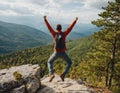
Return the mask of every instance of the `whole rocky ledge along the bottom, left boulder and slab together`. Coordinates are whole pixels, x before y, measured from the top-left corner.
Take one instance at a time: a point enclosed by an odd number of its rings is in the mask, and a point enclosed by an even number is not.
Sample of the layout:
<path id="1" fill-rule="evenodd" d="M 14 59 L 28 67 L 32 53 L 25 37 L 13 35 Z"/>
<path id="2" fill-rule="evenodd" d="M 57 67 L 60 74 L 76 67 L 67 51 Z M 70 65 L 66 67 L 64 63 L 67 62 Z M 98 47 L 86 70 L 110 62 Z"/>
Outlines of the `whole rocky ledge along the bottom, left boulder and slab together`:
<path id="1" fill-rule="evenodd" d="M 40 79 L 39 65 L 21 65 L 0 70 L 0 93 L 105 93 L 94 92 L 82 81 L 65 78 L 62 82 L 58 75 L 52 82 L 48 76 Z M 109 93 L 109 92 L 108 92 Z"/>

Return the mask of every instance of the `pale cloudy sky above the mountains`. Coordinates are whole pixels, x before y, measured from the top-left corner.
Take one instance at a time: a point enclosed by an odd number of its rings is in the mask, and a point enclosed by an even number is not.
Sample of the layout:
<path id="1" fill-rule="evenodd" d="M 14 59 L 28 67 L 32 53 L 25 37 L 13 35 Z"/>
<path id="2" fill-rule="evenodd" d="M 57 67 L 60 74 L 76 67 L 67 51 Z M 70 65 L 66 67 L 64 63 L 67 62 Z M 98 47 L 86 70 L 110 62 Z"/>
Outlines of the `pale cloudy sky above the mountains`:
<path id="1" fill-rule="evenodd" d="M 98 18 L 108 1 L 114 0 L 0 0 L 0 21 L 38 27 L 46 15 L 50 22 L 90 23 Z"/>

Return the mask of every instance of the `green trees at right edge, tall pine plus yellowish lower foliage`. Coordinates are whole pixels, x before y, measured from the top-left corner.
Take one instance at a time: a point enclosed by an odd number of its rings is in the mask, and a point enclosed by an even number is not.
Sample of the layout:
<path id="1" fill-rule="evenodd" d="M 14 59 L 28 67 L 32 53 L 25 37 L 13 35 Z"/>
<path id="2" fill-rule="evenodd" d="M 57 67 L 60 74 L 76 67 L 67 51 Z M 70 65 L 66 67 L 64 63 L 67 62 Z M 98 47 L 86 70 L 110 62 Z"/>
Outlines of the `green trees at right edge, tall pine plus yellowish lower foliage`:
<path id="1" fill-rule="evenodd" d="M 91 65 L 89 70 L 96 68 L 93 73 L 96 76 L 95 81 L 102 78 L 100 82 L 103 82 L 103 85 L 119 90 L 120 2 L 118 0 L 108 2 L 108 6 L 103 10 L 99 14 L 100 18 L 92 21 L 94 25 L 101 27 L 101 30 L 94 34 L 97 46 L 87 53 L 87 57 L 90 58 L 88 63 Z M 97 75 L 97 73 L 99 74 Z"/>

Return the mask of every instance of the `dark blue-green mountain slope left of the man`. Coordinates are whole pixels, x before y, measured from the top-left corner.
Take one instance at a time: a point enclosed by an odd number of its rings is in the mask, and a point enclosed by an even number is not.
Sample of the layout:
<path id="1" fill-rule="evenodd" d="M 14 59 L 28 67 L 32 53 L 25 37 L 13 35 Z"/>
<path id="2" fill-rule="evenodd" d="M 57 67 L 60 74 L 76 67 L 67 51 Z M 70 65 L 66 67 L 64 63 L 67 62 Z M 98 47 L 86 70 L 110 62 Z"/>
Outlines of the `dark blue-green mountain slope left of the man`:
<path id="1" fill-rule="evenodd" d="M 38 29 L 0 21 L 0 54 L 46 45 L 50 42 L 50 35 Z"/>

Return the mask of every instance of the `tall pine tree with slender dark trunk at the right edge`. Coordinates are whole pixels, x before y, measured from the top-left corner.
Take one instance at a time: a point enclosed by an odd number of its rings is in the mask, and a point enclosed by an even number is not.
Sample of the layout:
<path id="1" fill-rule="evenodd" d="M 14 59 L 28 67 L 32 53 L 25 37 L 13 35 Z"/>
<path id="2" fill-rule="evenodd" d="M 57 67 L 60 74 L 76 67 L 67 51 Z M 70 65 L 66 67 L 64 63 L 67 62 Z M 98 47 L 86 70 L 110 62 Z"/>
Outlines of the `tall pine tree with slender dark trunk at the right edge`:
<path id="1" fill-rule="evenodd" d="M 104 11 L 98 14 L 100 18 L 92 24 L 101 27 L 101 31 L 94 36 L 99 43 L 97 50 L 104 54 L 105 85 L 110 88 L 115 77 L 115 66 L 120 62 L 120 0 L 108 2 L 108 6 L 102 9 Z"/>

